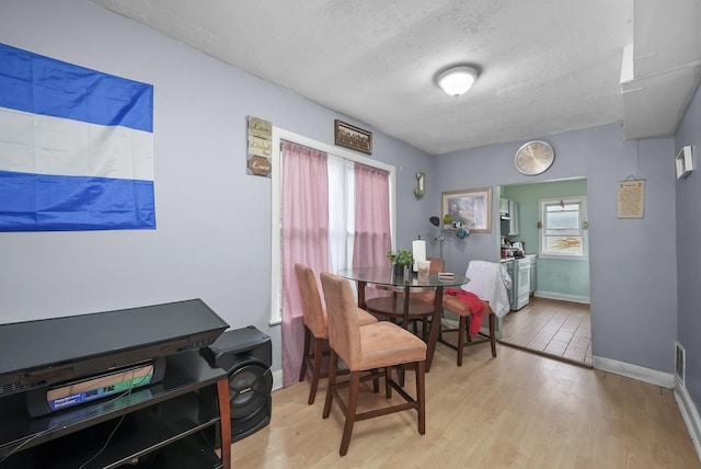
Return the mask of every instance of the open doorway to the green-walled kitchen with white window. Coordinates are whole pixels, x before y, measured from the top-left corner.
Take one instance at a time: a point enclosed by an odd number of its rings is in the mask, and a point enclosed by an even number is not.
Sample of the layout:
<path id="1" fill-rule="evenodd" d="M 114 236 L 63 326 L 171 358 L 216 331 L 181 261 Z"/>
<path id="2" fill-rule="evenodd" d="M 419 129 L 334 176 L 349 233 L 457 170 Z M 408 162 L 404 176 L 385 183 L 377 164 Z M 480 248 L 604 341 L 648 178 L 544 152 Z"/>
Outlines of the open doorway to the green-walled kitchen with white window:
<path id="1" fill-rule="evenodd" d="M 501 342 L 529 352 L 591 366 L 591 327 L 589 309 L 589 252 L 587 242 L 586 179 L 548 181 L 499 187 L 501 203 L 517 207 L 517 226 L 501 224 L 499 237 L 514 242 L 525 254 L 536 258 L 536 270 L 528 302 L 512 305 L 502 321 Z M 578 221 L 579 253 L 553 255 L 543 245 L 555 230 L 548 230 L 548 207 L 553 201 L 566 207 L 567 201 L 582 202 Z M 559 208 L 555 205 L 555 208 Z M 513 211 L 513 209 L 512 209 Z M 565 210 L 566 211 L 566 210 Z M 560 215 L 559 215 L 560 216 Z M 563 214 L 566 216 L 566 214 Z M 506 231 L 508 230 L 508 231 Z M 570 234 L 567 234 L 570 236 Z M 502 251 L 503 252 L 503 251 Z M 518 251 L 517 251 L 518 252 Z"/>

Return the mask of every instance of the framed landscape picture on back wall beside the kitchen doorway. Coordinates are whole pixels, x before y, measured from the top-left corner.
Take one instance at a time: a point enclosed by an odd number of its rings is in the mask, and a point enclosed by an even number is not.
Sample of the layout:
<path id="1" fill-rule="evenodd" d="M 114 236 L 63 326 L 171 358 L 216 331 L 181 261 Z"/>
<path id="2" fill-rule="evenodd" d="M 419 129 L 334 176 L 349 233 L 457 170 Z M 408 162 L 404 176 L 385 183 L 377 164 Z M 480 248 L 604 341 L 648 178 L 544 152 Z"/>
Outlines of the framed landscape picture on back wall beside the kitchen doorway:
<path id="1" fill-rule="evenodd" d="M 451 216 L 470 232 L 492 232 L 492 187 L 444 192 L 440 215 L 444 220 Z M 455 225 L 449 229 L 458 230 Z"/>

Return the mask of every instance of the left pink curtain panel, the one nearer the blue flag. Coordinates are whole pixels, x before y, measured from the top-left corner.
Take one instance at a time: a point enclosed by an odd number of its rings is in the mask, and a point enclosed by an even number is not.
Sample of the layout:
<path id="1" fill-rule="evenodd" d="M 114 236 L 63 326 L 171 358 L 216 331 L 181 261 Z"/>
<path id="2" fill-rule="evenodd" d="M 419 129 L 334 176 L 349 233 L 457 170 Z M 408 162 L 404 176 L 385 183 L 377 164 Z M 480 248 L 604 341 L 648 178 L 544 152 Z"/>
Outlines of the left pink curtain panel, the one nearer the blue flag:
<path id="1" fill-rule="evenodd" d="M 283 386 L 299 378 L 304 327 L 295 263 L 329 270 L 326 153 L 283 140 Z"/>

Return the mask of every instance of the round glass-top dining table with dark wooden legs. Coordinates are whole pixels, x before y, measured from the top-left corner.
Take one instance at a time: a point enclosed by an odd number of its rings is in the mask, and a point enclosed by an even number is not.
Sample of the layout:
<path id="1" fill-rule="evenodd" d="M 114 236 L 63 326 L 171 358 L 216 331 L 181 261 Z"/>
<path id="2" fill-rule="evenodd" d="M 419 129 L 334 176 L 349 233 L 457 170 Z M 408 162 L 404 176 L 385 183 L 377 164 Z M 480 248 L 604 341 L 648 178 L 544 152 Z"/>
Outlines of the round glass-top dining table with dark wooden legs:
<path id="1" fill-rule="evenodd" d="M 391 265 L 343 268 L 336 274 L 356 283 L 358 307 L 361 309 L 388 319 L 401 319 L 404 328 L 407 328 L 409 322 L 413 319 L 432 318 L 426 338 L 426 371 L 429 371 L 440 333 L 444 288 L 464 285 L 470 279 L 457 274 L 452 274 L 452 276 L 429 274 L 428 276 L 420 277 L 416 273 L 410 272 L 407 275 L 397 275 Z M 366 299 L 365 289 L 368 284 L 393 293 L 402 291 L 403 295 L 392 294 Z M 410 295 L 412 289 L 435 289 L 433 304 L 412 298 Z"/>

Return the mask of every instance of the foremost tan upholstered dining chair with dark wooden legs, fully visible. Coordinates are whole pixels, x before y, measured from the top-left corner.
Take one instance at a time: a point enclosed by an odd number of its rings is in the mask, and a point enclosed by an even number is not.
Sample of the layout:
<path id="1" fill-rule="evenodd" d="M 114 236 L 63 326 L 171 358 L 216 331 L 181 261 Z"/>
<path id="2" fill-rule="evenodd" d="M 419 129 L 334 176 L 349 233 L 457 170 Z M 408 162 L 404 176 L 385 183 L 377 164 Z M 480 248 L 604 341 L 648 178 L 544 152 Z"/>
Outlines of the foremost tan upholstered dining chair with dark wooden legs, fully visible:
<path id="1" fill-rule="evenodd" d="M 425 434 L 426 344 L 411 332 L 389 321 L 360 325 L 355 313 L 357 307 L 348 281 L 329 272 L 322 272 L 321 285 L 329 311 L 329 343 L 331 345 L 329 388 L 326 389 L 323 417 L 329 417 L 335 399 L 345 415 L 338 454 L 344 456 L 348 451 L 355 422 L 393 412 L 415 410 L 418 433 Z M 336 379 L 338 358 L 346 364 L 350 374 L 349 379 L 344 382 L 338 382 Z M 391 367 L 403 364 L 411 364 L 416 370 L 415 397 L 409 394 L 391 378 Z M 392 389 L 394 389 L 404 399 L 404 402 L 366 412 L 357 411 L 360 398 L 360 374 L 372 369 L 383 369 L 379 376 L 384 376 L 387 399 L 391 399 Z M 378 375 L 369 377 L 372 376 Z M 347 401 L 344 401 L 340 393 L 340 389 L 343 387 L 349 387 Z M 393 436 L 392 434 L 388 435 L 388 437 Z"/>

